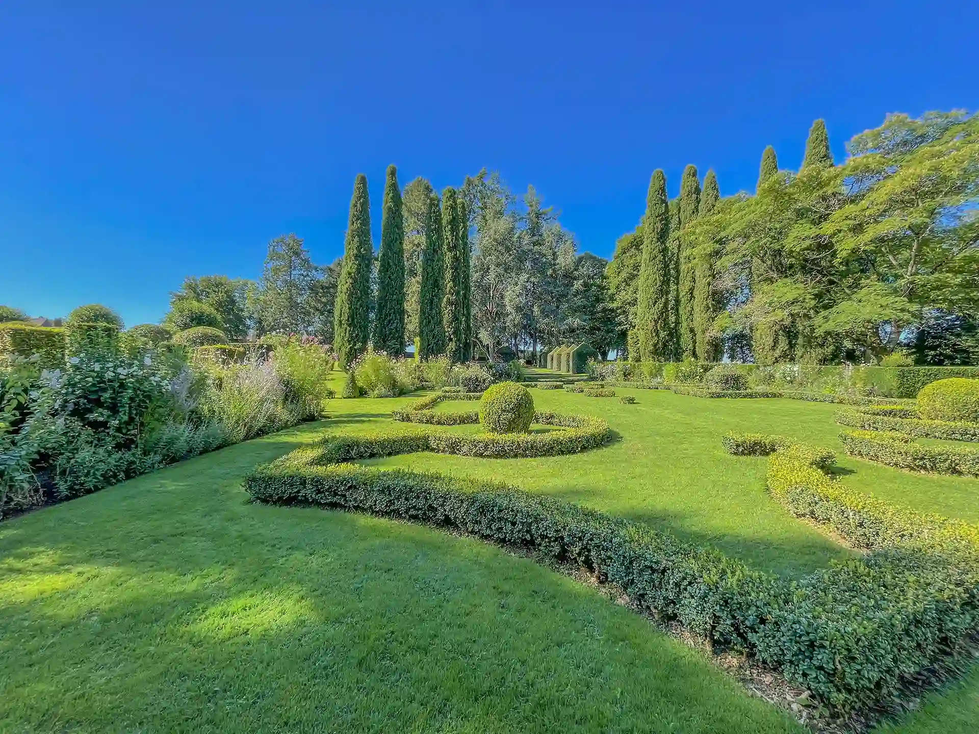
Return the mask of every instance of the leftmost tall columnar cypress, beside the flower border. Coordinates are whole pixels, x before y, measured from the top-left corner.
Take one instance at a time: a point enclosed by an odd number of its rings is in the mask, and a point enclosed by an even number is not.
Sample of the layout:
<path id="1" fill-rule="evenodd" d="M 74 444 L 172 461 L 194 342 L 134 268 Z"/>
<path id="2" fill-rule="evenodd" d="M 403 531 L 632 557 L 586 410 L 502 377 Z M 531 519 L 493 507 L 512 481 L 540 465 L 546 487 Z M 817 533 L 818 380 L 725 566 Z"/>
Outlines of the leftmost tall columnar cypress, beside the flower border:
<path id="1" fill-rule="evenodd" d="M 370 239 L 370 200 L 367 177 L 360 173 L 353 184 L 350 222 L 344 244 L 344 265 L 337 285 L 333 345 L 347 369 L 367 348 L 370 319 L 370 269 L 374 246 Z"/>

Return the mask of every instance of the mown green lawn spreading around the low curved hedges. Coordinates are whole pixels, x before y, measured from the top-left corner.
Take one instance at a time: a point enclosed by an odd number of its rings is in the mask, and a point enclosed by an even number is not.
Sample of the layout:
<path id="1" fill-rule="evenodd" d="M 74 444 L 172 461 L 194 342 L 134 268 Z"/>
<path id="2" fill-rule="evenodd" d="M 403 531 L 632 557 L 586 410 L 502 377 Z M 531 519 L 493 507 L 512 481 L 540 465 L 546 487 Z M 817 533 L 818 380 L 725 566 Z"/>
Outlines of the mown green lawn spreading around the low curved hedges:
<path id="1" fill-rule="evenodd" d="M 834 406 L 617 391 L 639 404 L 534 391 L 543 409 L 606 416 L 621 437 L 598 451 L 377 463 L 518 483 L 779 573 L 847 554 L 769 500 L 764 460 L 719 441 L 764 431 L 838 448 Z M 0 525 L 0 731 L 803 731 L 532 560 L 431 528 L 246 502 L 256 463 L 326 432 L 408 429 L 388 418 L 406 401 L 336 400 L 330 421 Z M 841 464 L 845 482 L 979 518 L 979 481 Z M 977 691 L 979 670 L 885 730 L 973 731 Z"/>

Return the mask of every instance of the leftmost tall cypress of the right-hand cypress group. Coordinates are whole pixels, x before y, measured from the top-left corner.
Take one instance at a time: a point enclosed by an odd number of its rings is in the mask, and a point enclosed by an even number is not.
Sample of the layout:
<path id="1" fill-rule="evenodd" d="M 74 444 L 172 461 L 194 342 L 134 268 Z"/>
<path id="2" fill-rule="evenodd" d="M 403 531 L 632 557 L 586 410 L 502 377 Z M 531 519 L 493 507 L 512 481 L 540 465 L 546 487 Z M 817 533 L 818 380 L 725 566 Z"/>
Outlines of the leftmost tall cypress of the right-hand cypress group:
<path id="1" fill-rule="evenodd" d="M 635 313 L 639 356 L 644 362 L 664 362 L 673 357 L 674 336 L 670 319 L 670 204 L 667 177 L 660 168 L 649 181 L 642 230 L 642 264 L 639 266 Z"/>

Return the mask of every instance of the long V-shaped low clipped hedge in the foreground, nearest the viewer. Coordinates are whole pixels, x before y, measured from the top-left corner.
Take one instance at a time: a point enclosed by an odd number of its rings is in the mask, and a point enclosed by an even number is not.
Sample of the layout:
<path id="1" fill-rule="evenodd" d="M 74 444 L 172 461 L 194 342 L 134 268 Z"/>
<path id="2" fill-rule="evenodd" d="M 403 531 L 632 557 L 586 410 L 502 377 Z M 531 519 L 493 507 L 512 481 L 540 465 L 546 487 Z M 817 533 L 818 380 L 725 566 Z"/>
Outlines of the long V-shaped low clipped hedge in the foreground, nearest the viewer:
<path id="1" fill-rule="evenodd" d="M 837 711 L 890 702 L 906 679 L 946 661 L 979 625 L 979 528 L 892 508 L 834 481 L 823 471 L 823 449 L 766 436 L 782 446 L 769 455 L 769 492 L 793 515 L 870 553 L 788 581 L 552 497 L 346 463 L 432 450 L 432 438 L 328 436 L 258 467 L 246 486 L 256 501 L 455 528 L 580 564 L 620 586 L 640 609 L 754 653 Z M 760 453 L 774 446 L 756 443 Z"/>

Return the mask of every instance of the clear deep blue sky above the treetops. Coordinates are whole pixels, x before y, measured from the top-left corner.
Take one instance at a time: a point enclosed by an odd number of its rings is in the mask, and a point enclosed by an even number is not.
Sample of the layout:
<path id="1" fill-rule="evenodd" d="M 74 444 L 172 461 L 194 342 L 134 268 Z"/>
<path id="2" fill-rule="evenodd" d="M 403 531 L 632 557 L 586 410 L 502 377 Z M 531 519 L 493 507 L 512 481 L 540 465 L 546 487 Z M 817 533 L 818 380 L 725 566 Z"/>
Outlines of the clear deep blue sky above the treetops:
<path id="1" fill-rule="evenodd" d="M 185 275 L 343 249 L 367 174 L 533 183 L 609 256 L 656 167 L 754 187 L 888 112 L 979 107 L 975 2 L 0 5 L 0 303 L 157 321 Z"/>

